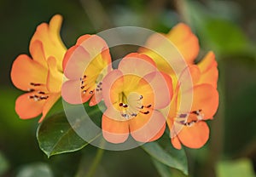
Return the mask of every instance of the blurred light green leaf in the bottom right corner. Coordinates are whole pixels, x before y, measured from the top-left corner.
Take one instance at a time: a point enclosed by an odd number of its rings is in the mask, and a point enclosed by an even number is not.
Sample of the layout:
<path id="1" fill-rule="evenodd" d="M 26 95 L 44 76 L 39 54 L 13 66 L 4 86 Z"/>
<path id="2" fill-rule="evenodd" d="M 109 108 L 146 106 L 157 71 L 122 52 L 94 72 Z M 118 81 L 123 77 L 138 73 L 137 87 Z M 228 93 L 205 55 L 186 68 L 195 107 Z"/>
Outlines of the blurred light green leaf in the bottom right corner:
<path id="1" fill-rule="evenodd" d="M 253 164 L 248 159 L 239 159 L 233 161 L 223 161 L 217 164 L 217 176 L 218 177 L 253 177 Z"/>

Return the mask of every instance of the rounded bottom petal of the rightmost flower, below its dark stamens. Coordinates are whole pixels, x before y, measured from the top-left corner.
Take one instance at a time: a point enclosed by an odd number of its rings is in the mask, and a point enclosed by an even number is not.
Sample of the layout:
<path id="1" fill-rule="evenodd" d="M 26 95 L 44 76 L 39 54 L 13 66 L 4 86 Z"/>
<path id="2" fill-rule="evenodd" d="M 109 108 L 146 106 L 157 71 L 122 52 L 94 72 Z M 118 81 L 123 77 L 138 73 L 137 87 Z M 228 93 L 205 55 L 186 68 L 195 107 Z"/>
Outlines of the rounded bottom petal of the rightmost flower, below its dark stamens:
<path id="1" fill-rule="evenodd" d="M 177 136 L 184 146 L 200 148 L 207 143 L 209 128 L 207 123 L 200 121 L 191 127 L 184 126 Z"/>

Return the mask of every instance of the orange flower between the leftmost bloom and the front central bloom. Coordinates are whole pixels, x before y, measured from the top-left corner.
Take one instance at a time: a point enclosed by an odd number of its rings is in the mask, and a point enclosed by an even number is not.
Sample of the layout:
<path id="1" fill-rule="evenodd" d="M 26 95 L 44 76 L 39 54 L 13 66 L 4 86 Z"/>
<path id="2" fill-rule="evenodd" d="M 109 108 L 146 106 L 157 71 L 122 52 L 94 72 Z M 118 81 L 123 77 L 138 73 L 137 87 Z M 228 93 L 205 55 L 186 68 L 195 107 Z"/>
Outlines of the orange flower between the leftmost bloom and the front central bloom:
<path id="1" fill-rule="evenodd" d="M 95 106 L 102 100 L 102 78 L 112 69 L 108 44 L 96 35 L 79 37 L 67 50 L 63 68 L 68 78 L 62 85 L 63 99 L 70 104 L 90 100 Z"/>

